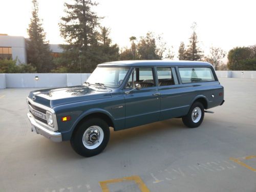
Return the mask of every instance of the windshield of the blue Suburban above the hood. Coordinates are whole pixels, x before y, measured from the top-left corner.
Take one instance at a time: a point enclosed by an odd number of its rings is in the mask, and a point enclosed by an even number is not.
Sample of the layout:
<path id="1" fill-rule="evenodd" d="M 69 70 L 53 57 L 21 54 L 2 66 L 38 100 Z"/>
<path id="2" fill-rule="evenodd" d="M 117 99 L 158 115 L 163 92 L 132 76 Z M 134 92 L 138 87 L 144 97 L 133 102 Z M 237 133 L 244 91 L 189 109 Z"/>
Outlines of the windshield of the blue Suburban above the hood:
<path id="1" fill-rule="evenodd" d="M 97 86 L 118 88 L 127 74 L 129 68 L 124 67 L 97 67 L 87 82 Z"/>

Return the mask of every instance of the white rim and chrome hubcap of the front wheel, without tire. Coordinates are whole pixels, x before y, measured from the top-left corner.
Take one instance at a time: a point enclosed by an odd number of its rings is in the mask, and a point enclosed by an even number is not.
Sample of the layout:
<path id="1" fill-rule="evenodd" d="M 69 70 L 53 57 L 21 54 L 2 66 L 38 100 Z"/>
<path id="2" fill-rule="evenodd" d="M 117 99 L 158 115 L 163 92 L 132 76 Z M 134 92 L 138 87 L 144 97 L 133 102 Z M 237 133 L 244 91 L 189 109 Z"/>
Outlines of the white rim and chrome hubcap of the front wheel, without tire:
<path id="1" fill-rule="evenodd" d="M 93 150 L 97 148 L 103 141 L 104 133 L 99 126 L 90 126 L 82 137 L 82 143 L 86 148 Z"/>

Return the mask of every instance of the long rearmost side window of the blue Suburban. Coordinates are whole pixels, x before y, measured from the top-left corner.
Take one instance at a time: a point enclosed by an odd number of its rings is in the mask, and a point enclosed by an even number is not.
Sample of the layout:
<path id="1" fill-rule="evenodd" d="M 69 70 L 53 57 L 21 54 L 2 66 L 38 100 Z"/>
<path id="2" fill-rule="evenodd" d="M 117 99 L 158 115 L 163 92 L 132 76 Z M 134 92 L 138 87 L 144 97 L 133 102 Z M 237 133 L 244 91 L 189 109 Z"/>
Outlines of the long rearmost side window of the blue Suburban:
<path id="1" fill-rule="evenodd" d="M 179 73 L 182 83 L 215 81 L 211 69 L 206 67 L 179 68 Z"/>

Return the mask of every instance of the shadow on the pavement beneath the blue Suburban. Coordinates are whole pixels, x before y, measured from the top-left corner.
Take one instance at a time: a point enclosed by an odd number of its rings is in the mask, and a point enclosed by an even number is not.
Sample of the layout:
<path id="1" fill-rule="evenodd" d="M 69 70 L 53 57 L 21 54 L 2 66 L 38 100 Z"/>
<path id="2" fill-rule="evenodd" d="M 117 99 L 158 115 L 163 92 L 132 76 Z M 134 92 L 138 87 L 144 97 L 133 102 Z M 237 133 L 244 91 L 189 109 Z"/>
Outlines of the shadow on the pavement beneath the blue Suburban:
<path id="1" fill-rule="evenodd" d="M 172 135 L 174 132 L 184 129 L 186 128 L 181 119 L 170 119 L 116 132 L 111 128 L 110 141 L 106 148 L 114 149 L 117 146 L 125 145 L 127 143 L 129 144 L 129 142 L 134 142 L 135 140 L 137 141 L 138 138 L 140 138 L 140 142 L 144 142 L 147 139 L 163 137 L 164 135 Z M 84 158 L 73 151 L 69 141 L 54 143 L 44 137 L 41 137 L 35 139 L 34 142 L 36 142 L 37 145 L 40 143 L 39 146 L 37 146 L 40 148 L 38 151 L 40 156 L 47 156 L 48 159 L 61 159 L 62 161 L 65 159 L 66 161 L 70 161 Z M 102 155 L 103 154 L 104 153 L 102 153 Z"/>

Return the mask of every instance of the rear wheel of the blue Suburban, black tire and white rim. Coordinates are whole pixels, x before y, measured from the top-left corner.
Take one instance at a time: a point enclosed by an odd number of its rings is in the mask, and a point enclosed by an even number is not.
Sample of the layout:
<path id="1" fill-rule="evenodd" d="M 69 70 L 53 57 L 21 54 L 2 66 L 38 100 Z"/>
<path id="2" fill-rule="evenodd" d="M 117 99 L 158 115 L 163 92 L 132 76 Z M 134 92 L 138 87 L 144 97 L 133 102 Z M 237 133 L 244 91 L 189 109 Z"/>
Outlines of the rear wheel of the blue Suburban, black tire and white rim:
<path id="1" fill-rule="evenodd" d="M 204 106 L 201 102 L 191 105 L 187 115 L 182 117 L 183 123 L 190 128 L 198 127 L 204 119 Z"/>

